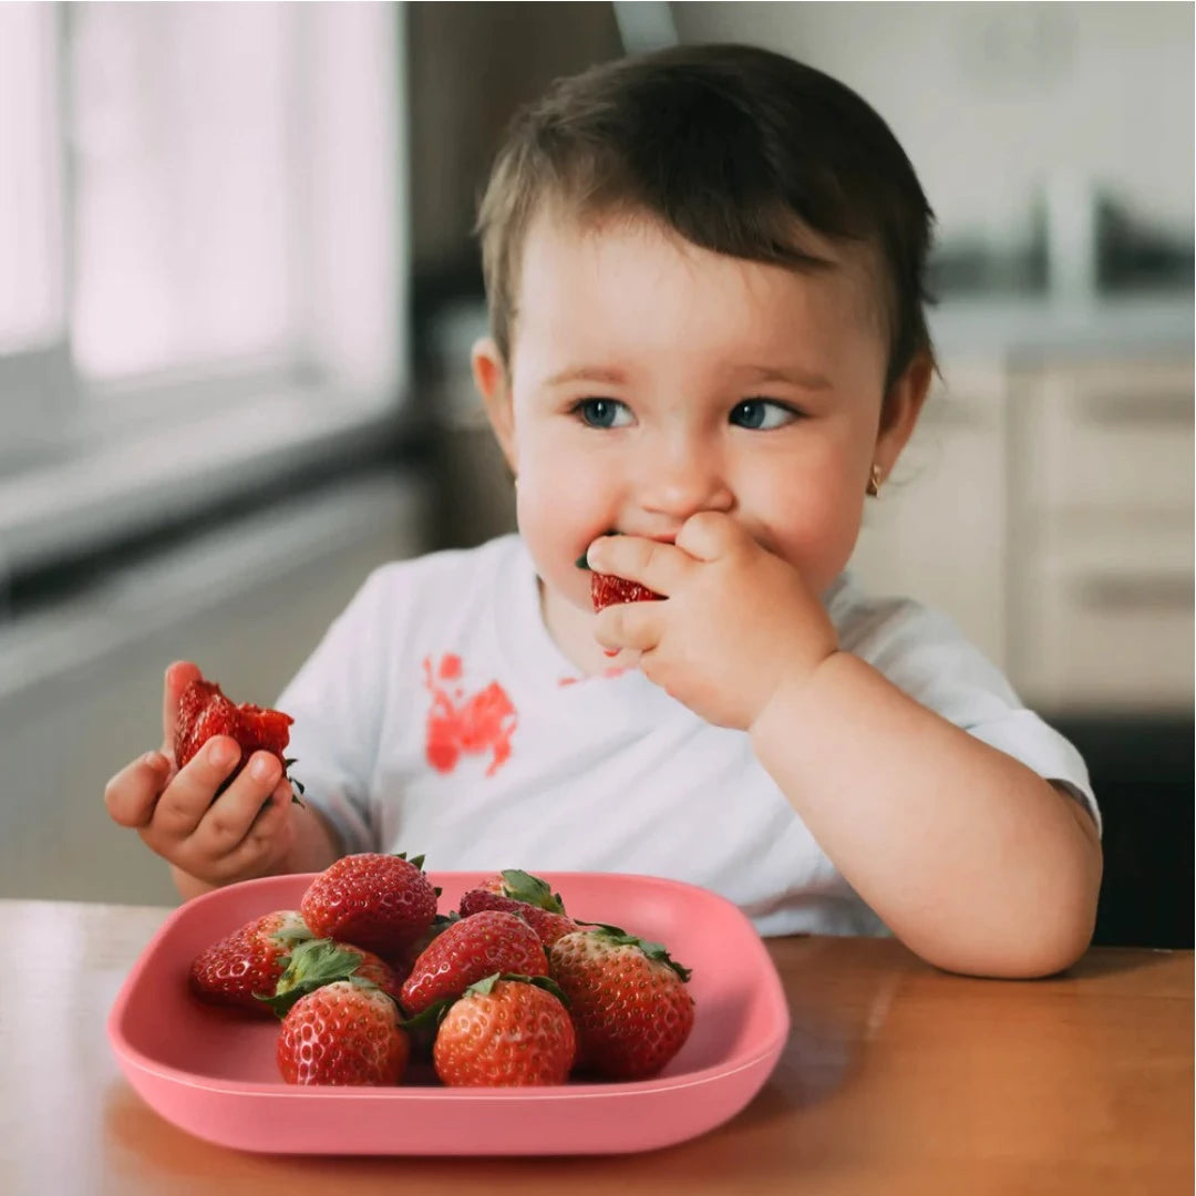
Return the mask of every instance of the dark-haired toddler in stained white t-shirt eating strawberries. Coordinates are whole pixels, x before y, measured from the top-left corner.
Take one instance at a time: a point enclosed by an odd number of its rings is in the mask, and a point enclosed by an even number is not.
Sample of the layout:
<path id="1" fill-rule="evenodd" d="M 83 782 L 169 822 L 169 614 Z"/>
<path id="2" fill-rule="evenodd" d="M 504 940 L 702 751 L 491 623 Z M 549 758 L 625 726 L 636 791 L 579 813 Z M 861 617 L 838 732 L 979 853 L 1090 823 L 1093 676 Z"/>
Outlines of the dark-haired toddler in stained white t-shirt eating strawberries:
<path id="1" fill-rule="evenodd" d="M 1074 962 L 1084 762 L 950 621 L 844 572 L 934 370 L 930 219 L 875 112 L 780 55 L 557 84 L 480 216 L 519 533 L 365 581 L 277 702 L 305 807 L 266 753 L 213 803 L 227 739 L 175 768 L 178 663 L 111 816 L 184 896 L 407 850 L 688 880 L 762 934 L 889 930 L 972 975 Z M 596 615 L 591 570 L 663 600 Z"/>

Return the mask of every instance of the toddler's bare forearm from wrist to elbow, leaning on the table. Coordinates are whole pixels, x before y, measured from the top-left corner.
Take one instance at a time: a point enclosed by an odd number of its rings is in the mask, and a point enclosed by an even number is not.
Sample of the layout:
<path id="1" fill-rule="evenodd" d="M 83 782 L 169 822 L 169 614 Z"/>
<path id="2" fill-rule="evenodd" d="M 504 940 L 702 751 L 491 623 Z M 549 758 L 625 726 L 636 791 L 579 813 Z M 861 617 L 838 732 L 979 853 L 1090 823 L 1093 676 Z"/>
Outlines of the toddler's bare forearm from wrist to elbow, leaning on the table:
<path id="1" fill-rule="evenodd" d="M 910 948 L 987 976 L 1085 950 L 1100 847 L 1087 813 L 836 653 L 751 727 L 762 765 L 849 884 Z"/>

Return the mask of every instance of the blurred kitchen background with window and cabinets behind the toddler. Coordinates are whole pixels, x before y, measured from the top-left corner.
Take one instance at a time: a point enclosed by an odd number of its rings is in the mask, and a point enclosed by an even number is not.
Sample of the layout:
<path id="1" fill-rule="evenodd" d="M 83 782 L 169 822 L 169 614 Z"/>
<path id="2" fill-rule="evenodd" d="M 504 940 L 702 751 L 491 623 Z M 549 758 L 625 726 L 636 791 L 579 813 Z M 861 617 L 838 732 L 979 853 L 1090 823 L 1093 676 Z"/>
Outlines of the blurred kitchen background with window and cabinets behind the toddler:
<path id="1" fill-rule="evenodd" d="M 109 823 L 197 660 L 271 702 L 366 573 L 512 526 L 471 391 L 513 109 L 673 41 L 855 87 L 935 208 L 941 383 L 855 568 L 1086 753 L 1098 941 L 1191 945 L 1189 4 L 0 5 L 0 896 L 172 902 Z"/>

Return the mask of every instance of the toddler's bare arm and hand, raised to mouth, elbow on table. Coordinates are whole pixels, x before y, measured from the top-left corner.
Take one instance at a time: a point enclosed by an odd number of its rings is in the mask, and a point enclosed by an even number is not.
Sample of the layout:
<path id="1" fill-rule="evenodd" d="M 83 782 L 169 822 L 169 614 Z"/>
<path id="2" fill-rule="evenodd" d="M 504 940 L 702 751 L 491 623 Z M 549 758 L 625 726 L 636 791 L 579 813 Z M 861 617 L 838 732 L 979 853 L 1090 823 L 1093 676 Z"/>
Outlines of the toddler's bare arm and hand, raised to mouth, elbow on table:
<path id="1" fill-rule="evenodd" d="M 734 520 L 694 515 L 676 545 L 604 537 L 588 561 L 666 596 L 602 611 L 599 643 L 749 732 L 823 850 L 925 959 L 1029 977 L 1087 947 L 1102 868 L 1087 813 L 841 652 L 804 579 Z"/>

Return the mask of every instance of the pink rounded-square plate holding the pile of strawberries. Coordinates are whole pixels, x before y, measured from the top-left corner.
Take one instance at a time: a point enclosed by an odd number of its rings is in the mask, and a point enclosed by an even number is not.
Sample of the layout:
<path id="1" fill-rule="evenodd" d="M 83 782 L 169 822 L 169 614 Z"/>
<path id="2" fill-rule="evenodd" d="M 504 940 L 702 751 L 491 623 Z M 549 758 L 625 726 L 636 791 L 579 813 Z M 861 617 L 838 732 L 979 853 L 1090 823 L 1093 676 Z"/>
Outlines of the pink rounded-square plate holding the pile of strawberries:
<path id="1" fill-rule="evenodd" d="M 440 909 L 493 875 L 429 873 Z M 297 1087 L 275 1063 L 277 1025 L 197 1001 L 191 960 L 261 914 L 295 909 L 312 875 L 230 885 L 177 909 L 142 952 L 112 1006 L 121 1069 L 163 1117 L 243 1151 L 298 1154 L 606 1154 L 702 1134 L 743 1109 L 780 1056 L 789 1017 L 751 922 L 704 889 L 652 877 L 543 877 L 578 919 L 664 942 L 692 969 L 694 1030 L 669 1067 L 630 1084 L 543 1088 Z"/>

